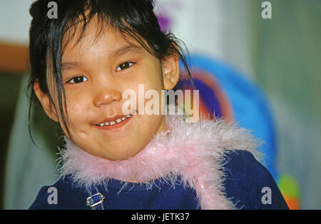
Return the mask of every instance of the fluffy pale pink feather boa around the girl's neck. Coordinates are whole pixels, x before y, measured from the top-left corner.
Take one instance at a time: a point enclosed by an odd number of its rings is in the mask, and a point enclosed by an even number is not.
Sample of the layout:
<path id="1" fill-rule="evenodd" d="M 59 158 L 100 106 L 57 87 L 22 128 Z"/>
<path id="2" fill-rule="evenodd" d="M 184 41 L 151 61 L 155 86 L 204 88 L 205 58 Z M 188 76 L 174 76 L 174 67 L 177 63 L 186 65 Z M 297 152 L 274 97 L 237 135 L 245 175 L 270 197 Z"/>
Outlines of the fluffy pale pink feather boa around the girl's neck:
<path id="1" fill-rule="evenodd" d="M 76 185 L 107 184 L 109 178 L 135 179 L 153 185 L 163 178 L 194 188 L 202 209 L 231 209 L 225 197 L 223 163 L 226 150 L 255 153 L 255 139 L 244 128 L 221 118 L 185 123 L 182 116 L 166 116 L 167 131 L 155 136 L 148 146 L 126 161 L 108 161 L 92 156 L 66 139 L 61 150 L 61 175 L 71 174 Z"/>

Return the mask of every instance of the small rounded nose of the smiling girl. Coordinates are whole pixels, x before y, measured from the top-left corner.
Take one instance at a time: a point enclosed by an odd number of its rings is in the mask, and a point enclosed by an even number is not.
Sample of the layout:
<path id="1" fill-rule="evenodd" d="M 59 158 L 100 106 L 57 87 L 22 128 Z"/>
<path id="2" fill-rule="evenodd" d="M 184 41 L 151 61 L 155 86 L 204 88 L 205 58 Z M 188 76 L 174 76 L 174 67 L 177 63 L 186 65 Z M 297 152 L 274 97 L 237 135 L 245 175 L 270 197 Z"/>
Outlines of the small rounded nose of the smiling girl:
<path id="1" fill-rule="evenodd" d="M 121 101 L 122 94 L 117 88 L 111 85 L 96 86 L 96 93 L 93 96 L 93 105 L 96 107 L 106 106 L 114 101 Z"/>

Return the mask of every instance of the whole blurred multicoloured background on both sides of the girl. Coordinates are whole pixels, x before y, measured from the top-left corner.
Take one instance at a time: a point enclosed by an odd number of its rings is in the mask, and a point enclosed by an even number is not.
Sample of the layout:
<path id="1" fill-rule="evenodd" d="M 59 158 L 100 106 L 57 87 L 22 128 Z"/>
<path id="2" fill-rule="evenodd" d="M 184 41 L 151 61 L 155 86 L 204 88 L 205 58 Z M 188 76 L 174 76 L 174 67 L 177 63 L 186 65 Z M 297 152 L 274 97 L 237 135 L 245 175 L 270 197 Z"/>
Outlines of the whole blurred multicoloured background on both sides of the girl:
<path id="1" fill-rule="evenodd" d="M 58 177 L 58 131 L 40 107 L 31 111 L 38 147 L 28 132 L 32 2 L 0 1 L 3 209 L 29 208 L 41 186 Z M 159 0 L 156 12 L 164 31 L 173 31 L 188 47 L 195 80 L 204 90 L 203 110 L 265 141 L 266 166 L 292 209 L 320 209 L 321 1 L 268 1 L 271 19 L 263 19 L 263 2 Z"/>

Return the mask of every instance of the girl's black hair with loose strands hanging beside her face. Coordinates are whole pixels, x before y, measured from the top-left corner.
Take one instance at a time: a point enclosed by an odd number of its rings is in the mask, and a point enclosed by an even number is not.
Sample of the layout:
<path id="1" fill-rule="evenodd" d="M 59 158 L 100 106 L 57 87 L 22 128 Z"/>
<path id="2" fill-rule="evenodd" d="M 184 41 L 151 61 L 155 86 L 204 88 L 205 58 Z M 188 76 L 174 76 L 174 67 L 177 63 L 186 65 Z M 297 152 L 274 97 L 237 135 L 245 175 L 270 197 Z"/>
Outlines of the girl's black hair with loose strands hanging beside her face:
<path id="1" fill-rule="evenodd" d="M 185 47 L 182 47 L 184 46 L 183 42 L 170 32 L 165 33 L 161 30 L 153 11 L 153 0 L 56 0 L 58 6 L 56 19 L 50 19 L 47 15 L 50 9 L 49 2 L 49 0 L 35 1 L 29 10 L 33 17 L 29 33 L 31 66 L 28 86 L 31 93 L 29 133 L 31 133 L 31 103 L 34 100 L 37 101 L 33 86 L 38 81 L 41 91 L 48 94 L 51 104 L 57 112 L 60 112 L 63 126 L 71 136 L 66 125 L 66 114 L 63 111 L 63 108 L 66 108 L 66 100 L 64 100 L 66 96 L 61 78 L 62 56 L 68 42 L 75 38 L 76 26 L 81 26 L 81 34 L 77 35 L 78 41 L 81 41 L 86 26 L 94 16 L 98 18 L 97 36 L 102 34 L 108 26 L 120 31 L 124 38 L 135 39 L 160 60 L 177 54 L 185 67 L 191 86 L 193 86 L 185 57 Z M 54 78 L 58 107 L 49 93 L 48 73 Z"/>

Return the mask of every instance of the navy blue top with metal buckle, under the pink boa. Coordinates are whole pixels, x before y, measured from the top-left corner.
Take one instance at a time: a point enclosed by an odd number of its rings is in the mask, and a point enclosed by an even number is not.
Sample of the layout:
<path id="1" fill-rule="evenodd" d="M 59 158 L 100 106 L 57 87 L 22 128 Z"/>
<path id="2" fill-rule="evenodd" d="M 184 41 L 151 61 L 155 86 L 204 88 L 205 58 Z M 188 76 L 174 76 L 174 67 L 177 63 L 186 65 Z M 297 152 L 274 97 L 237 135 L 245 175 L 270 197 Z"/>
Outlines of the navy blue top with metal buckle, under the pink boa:
<path id="1" fill-rule="evenodd" d="M 248 151 L 229 153 L 223 165 L 225 195 L 238 209 L 288 209 L 275 180 L 269 171 Z M 74 186 L 71 175 L 60 178 L 54 185 L 44 186 L 30 209 L 127 209 L 127 210 L 195 210 L 201 209 L 193 188 L 184 187 L 178 180 L 175 185 L 156 180 L 152 188 L 146 184 L 128 183 L 111 179 L 108 187 L 97 185 L 91 189 Z M 51 187 L 56 189 L 56 201 L 51 201 Z M 50 189 L 49 189 L 50 188 Z M 123 188 L 123 189 L 122 189 Z M 87 198 L 101 193 L 103 202 L 90 207 Z M 93 198 L 98 199 L 100 195 Z"/>

